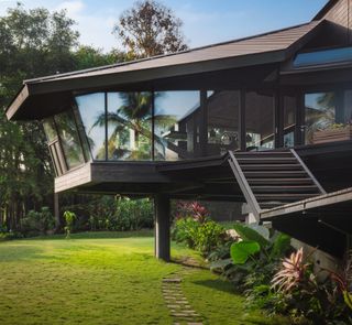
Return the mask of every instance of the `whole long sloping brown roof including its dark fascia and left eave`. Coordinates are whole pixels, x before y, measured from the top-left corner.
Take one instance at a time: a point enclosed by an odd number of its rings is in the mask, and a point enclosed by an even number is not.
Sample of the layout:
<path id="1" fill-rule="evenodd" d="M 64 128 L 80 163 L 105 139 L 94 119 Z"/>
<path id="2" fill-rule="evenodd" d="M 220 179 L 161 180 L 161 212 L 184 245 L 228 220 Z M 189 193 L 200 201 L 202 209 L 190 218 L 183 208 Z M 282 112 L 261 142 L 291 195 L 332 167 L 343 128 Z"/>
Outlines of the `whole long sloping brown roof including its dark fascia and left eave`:
<path id="1" fill-rule="evenodd" d="M 38 110 L 40 105 L 37 102 L 40 100 L 50 98 L 52 102 L 57 104 L 57 100 L 62 98 L 62 95 L 58 94 L 73 90 L 94 90 L 283 62 L 300 50 L 323 22 L 312 21 L 288 29 L 175 54 L 24 80 L 24 86 L 9 106 L 7 116 L 9 119 L 40 118 L 37 112 L 31 113 L 34 109 Z M 55 99 L 53 100 L 53 98 Z M 48 104 L 46 104 L 46 107 Z"/>

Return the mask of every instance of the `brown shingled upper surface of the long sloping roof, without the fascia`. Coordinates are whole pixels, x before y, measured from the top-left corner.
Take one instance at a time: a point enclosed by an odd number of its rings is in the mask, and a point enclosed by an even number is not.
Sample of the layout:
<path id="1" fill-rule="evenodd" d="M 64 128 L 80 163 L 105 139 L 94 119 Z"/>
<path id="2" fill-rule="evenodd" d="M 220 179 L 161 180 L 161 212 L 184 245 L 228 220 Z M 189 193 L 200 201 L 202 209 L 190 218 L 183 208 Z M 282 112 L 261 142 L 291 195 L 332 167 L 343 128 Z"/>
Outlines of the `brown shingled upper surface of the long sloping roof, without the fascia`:
<path id="1" fill-rule="evenodd" d="M 42 78 L 25 80 L 25 84 L 91 77 L 106 74 L 118 74 L 148 68 L 160 68 L 189 63 L 200 63 L 213 59 L 240 57 L 268 52 L 286 51 L 301 37 L 311 32 L 320 21 L 258 34 L 245 39 L 212 44 L 198 48 L 187 50 L 174 54 L 161 55 L 145 59 L 132 61 L 86 71 L 53 75 Z M 253 64 L 253 63 L 252 63 Z M 255 62 L 254 62 L 255 64 Z"/>

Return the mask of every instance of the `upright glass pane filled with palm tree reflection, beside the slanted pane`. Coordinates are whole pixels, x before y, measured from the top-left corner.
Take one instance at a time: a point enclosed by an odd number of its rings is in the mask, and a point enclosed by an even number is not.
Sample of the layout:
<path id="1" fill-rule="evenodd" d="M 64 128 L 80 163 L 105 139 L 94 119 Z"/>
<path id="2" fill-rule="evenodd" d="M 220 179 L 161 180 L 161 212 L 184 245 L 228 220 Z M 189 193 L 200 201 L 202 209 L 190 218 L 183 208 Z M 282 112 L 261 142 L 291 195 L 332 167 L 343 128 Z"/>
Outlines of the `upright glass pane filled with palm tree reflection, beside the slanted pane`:
<path id="1" fill-rule="evenodd" d="M 153 95 L 108 94 L 108 159 L 152 160 Z"/>

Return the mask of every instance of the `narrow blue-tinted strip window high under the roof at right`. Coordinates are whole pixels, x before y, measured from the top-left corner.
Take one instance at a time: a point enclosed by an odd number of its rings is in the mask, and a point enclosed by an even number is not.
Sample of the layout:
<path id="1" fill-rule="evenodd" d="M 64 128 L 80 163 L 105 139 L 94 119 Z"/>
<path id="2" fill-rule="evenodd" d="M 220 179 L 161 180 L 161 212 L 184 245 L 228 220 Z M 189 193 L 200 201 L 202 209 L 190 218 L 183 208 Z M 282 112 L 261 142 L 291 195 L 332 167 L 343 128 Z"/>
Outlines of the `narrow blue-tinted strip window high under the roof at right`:
<path id="1" fill-rule="evenodd" d="M 352 61 L 352 47 L 330 48 L 297 54 L 294 67 L 343 63 Z"/>

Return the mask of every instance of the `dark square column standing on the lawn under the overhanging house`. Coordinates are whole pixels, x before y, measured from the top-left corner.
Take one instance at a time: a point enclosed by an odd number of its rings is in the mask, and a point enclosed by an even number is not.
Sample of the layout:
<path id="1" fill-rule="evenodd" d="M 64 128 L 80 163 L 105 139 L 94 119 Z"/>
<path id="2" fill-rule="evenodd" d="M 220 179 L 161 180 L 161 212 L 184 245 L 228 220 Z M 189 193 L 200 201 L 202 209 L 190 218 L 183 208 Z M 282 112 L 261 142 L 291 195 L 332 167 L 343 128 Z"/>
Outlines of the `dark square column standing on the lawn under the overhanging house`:
<path id="1" fill-rule="evenodd" d="M 157 259 L 168 262 L 170 257 L 169 197 L 164 194 L 156 194 L 154 196 L 154 209 L 155 209 L 155 257 Z"/>

